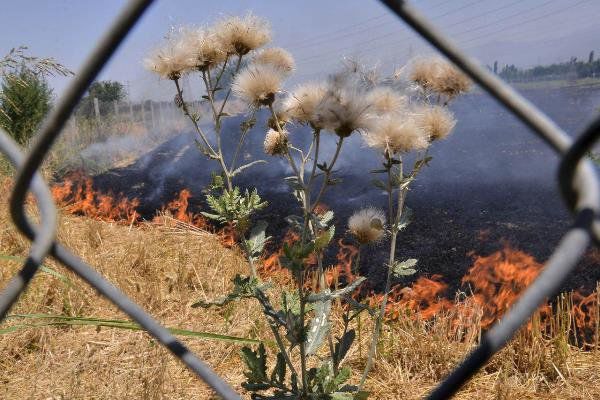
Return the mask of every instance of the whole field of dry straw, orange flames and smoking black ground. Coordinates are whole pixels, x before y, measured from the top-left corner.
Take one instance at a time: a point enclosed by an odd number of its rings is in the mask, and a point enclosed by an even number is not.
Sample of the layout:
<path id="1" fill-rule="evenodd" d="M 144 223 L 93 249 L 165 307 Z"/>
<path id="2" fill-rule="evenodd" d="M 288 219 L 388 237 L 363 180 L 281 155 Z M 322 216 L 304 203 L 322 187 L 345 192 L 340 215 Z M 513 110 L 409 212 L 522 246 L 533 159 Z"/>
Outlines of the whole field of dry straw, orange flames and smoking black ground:
<path id="1" fill-rule="evenodd" d="M 597 91 L 582 88 L 528 95 L 568 131 L 579 129 L 600 99 Z M 570 223 L 556 189 L 557 160 L 539 140 L 481 94 L 452 107 L 459 125 L 432 151 L 431 165 L 411 187 L 407 206 L 413 222 L 398 236 L 399 257 L 417 259 L 417 273 L 392 282 L 380 360 L 367 380 L 377 399 L 421 397 L 445 376 L 536 278 Z M 243 158 L 262 157 L 267 117 L 258 115 L 241 149 Z M 240 122 L 227 118 L 223 129 L 233 131 Z M 351 296 L 375 309 L 383 298 L 386 252 L 375 245 L 359 253 L 346 221 L 356 209 L 381 206 L 385 197 L 366 178 L 365 172 L 378 167 L 375 157 L 355 139 L 348 139 L 345 160 L 337 165 L 340 189 L 325 195 L 315 213 L 336 210 L 336 245 L 323 255 L 326 284 L 336 289 L 359 274 L 366 276 Z M 322 145 L 331 151 L 333 142 L 324 137 Z M 285 298 L 294 280 L 284 267 L 285 249 L 301 240 L 285 222 L 294 211 L 294 199 L 281 183 L 289 171 L 279 159 L 253 171 L 240 179 L 240 186 L 256 187 L 270 203 L 258 213 L 269 223 L 271 236 L 258 259 L 258 273 L 264 281 L 281 284 L 270 294 L 273 298 Z M 207 210 L 210 173 L 194 136 L 184 133 L 126 167 L 95 176 L 83 171 L 56 176 L 52 194 L 62 210 L 59 238 L 167 326 L 233 335 L 242 342 L 261 340 L 276 349 L 259 307 L 251 302 L 233 302 L 214 312 L 190 307 L 198 299 L 226 293 L 229 278 L 247 270 L 236 227 L 201 214 Z M 7 227 L 0 232 L 0 250 L 20 256 L 27 244 L 8 227 L 7 199 L 0 198 Z M 17 270 L 18 262 L 9 260 L 0 282 Z M 600 346 L 598 262 L 600 253 L 590 251 L 562 292 L 548 299 L 460 398 L 597 398 L 600 393 L 589 382 L 597 378 Z M 319 286 L 318 260 L 308 257 L 305 264 L 304 286 Z M 54 273 L 36 279 L 16 318 L 42 313 L 122 318 L 72 274 L 52 262 L 49 267 Z M 332 307 L 332 323 L 344 325 L 347 304 L 336 301 Z M 23 329 L 12 323 L 0 331 L 4 397 L 83 398 L 90 392 L 98 398 L 210 396 L 142 333 L 55 325 Z M 365 364 L 372 330 L 368 318 L 358 319 L 358 346 L 347 356 L 357 369 Z M 9 332 L 14 335 L 10 340 Z M 239 343 L 192 338 L 186 343 L 240 389 Z M 24 370 L 35 384 L 21 378 Z"/>

